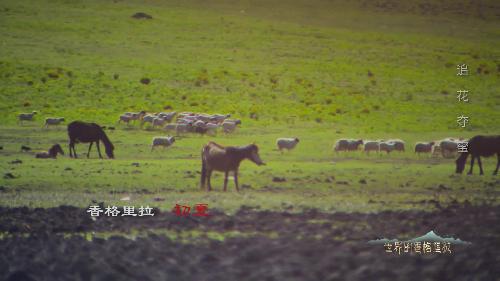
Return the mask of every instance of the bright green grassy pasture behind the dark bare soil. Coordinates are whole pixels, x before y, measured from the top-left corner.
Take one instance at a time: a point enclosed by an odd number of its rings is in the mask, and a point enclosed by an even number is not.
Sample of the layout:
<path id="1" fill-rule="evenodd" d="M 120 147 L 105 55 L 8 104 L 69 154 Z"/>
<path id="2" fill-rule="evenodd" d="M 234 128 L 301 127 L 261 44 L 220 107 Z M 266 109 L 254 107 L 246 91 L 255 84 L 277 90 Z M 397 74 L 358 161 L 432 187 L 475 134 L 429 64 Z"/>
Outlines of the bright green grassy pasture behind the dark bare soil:
<path id="1" fill-rule="evenodd" d="M 2 1 L 0 205 L 116 205 L 170 209 L 177 202 L 227 210 L 372 212 L 469 201 L 498 204 L 496 159 L 485 176 L 456 176 L 453 159 L 416 156 L 416 141 L 500 131 L 500 20 L 495 1 Z M 387 5 L 384 3 L 393 3 Z M 464 4 L 461 6 L 460 4 Z M 433 6 L 434 5 L 434 6 Z M 472 6 L 470 6 L 472 5 Z M 152 20 L 131 18 L 146 12 Z M 468 77 L 456 76 L 467 63 Z M 139 82 L 150 78 L 149 85 Z M 456 91 L 469 90 L 469 103 Z M 162 131 L 117 125 L 124 111 L 231 113 L 232 135 L 187 135 L 151 152 Z M 16 115 L 36 110 L 32 123 Z M 461 129 L 458 115 L 470 116 Z M 45 117 L 116 126 L 115 160 L 34 159 L 22 144 L 67 150 L 64 126 Z M 275 139 L 297 136 L 280 154 Z M 407 151 L 335 155 L 341 137 L 402 138 Z M 244 162 L 240 193 L 222 177 L 199 190 L 209 140 L 256 142 L 267 162 Z M 79 145 L 81 156 L 86 146 Z M 11 164 L 20 159 L 21 164 Z M 139 166 L 132 165 L 139 163 Z M 274 177 L 285 181 L 273 181 Z M 121 201 L 129 196 L 130 201 Z"/>

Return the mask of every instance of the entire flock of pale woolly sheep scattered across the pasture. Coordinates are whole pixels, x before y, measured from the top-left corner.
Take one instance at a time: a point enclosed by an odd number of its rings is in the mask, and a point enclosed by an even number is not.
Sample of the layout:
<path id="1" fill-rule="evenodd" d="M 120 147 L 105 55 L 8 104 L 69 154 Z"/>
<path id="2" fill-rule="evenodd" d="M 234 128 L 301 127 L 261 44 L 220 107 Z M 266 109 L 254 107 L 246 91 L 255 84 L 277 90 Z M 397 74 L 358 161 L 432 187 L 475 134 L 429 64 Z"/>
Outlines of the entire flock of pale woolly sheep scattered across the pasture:
<path id="1" fill-rule="evenodd" d="M 18 115 L 19 122 L 33 121 L 36 111 L 31 113 L 21 113 Z M 230 114 L 206 114 L 194 112 L 160 112 L 160 113 L 147 113 L 146 111 L 140 112 L 125 112 L 120 115 L 118 123 L 131 123 L 139 122 L 140 127 L 149 124 L 151 128 L 162 127 L 167 132 L 176 133 L 181 135 L 183 133 L 200 133 L 215 136 L 218 130 L 224 133 L 232 133 L 238 125 L 241 124 L 239 119 L 229 119 Z M 64 122 L 62 117 L 50 117 L 45 119 L 44 127 L 56 126 Z M 458 151 L 459 142 L 464 142 L 463 139 L 445 138 L 439 141 L 431 142 L 418 142 L 415 144 L 415 153 L 429 153 L 432 156 L 442 155 L 445 158 L 454 157 Z M 154 137 L 152 141 L 151 150 L 157 146 L 169 147 L 174 144 L 175 138 L 173 136 L 167 137 Z M 299 143 L 298 138 L 278 138 L 276 146 L 278 150 L 293 150 Z M 361 139 L 339 139 L 333 146 L 336 153 L 342 151 L 362 151 L 367 155 L 370 152 L 380 153 L 386 152 L 387 154 L 392 151 L 405 151 L 405 142 L 401 139 L 390 140 L 361 140 Z"/>

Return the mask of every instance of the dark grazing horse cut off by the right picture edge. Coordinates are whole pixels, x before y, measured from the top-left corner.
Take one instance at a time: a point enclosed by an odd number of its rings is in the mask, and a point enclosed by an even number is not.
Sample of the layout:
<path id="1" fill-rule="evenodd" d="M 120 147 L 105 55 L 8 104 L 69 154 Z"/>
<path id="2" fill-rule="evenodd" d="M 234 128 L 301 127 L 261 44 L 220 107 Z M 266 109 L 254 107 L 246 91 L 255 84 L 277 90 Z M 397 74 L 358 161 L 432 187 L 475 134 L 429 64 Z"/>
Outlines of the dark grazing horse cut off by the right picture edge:
<path id="1" fill-rule="evenodd" d="M 483 165 L 481 164 L 481 156 L 490 157 L 495 153 L 498 157 L 497 168 L 493 172 L 493 175 L 498 174 L 498 167 L 500 167 L 500 135 L 498 136 L 475 136 L 469 140 L 467 147 L 468 152 L 462 153 L 458 157 L 456 164 L 456 173 L 461 174 L 465 169 L 465 162 L 469 154 L 472 155 L 470 161 L 469 175 L 472 175 L 472 167 L 474 167 L 474 159 L 477 158 L 477 163 L 479 164 L 480 175 L 483 174 Z"/>

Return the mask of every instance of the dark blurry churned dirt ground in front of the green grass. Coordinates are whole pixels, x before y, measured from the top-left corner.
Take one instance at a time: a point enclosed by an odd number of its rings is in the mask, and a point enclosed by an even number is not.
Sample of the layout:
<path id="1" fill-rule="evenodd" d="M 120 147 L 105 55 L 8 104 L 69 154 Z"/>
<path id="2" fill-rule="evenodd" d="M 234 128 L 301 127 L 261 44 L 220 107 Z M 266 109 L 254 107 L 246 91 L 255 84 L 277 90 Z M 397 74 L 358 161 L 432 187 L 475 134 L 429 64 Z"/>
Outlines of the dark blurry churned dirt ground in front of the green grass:
<path id="1" fill-rule="evenodd" d="M 85 209 L 0 208 L 4 280 L 498 280 L 500 207 L 454 205 L 433 212 L 303 213 L 241 208 L 208 218 L 100 217 Z M 253 233 L 180 241 L 174 233 Z M 471 242 L 452 254 L 385 253 L 367 241 L 434 230 Z M 149 233 L 86 239 L 76 233 Z"/>

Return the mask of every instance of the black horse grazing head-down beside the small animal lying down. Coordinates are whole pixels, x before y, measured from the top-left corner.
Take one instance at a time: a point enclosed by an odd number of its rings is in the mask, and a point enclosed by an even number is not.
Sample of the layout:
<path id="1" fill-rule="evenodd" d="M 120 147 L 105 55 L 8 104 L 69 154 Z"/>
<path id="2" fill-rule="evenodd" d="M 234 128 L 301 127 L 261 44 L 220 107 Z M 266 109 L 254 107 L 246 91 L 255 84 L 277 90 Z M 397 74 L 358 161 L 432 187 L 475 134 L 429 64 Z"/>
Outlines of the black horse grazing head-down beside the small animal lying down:
<path id="1" fill-rule="evenodd" d="M 109 140 L 106 133 L 104 133 L 101 126 L 96 123 L 86 123 L 82 121 L 74 121 L 68 125 L 68 136 L 69 136 L 69 156 L 77 158 L 75 143 L 88 143 L 89 151 L 87 152 L 87 158 L 90 155 L 90 149 L 92 148 L 92 144 L 95 142 L 97 146 L 97 152 L 99 153 L 99 158 L 102 158 L 101 149 L 99 148 L 99 141 L 102 141 L 104 144 L 104 148 L 106 150 L 106 155 L 109 158 L 114 158 L 113 150 L 115 147 Z M 74 153 L 74 154 L 73 154 Z"/>

